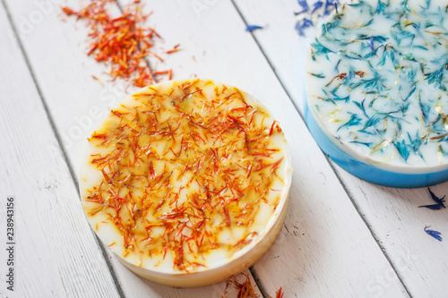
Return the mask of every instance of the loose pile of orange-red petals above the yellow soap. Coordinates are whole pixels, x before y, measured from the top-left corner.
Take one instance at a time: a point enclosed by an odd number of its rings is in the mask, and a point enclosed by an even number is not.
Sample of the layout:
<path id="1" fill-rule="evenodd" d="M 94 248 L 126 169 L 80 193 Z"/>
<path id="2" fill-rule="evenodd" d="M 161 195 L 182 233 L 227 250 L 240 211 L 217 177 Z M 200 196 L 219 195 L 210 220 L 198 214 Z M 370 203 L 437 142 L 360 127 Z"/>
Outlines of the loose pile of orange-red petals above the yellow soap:
<path id="1" fill-rule="evenodd" d="M 79 11 L 66 6 L 62 11 L 67 16 L 76 16 L 76 20 L 86 21 L 90 44 L 87 55 L 110 67 L 108 74 L 112 81 L 123 79 L 136 87 L 159 81 L 145 60 L 153 56 L 163 61 L 153 49 L 161 38 L 156 30 L 145 25 L 149 14 L 142 13 L 143 4 L 136 0 L 126 5 L 121 15 L 112 16 L 109 11 L 114 4 L 116 0 L 89 0 Z M 177 52 L 178 46 L 165 54 Z"/>

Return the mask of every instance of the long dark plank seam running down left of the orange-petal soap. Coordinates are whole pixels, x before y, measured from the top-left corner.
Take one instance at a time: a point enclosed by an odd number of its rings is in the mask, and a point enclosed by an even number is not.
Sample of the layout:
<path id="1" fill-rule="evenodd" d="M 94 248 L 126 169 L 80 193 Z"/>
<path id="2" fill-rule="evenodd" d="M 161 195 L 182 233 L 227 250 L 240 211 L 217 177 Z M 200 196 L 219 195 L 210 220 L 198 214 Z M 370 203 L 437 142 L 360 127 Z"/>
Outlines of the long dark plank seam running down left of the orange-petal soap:
<path id="1" fill-rule="evenodd" d="M 70 175 L 72 177 L 72 182 L 73 182 L 73 184 L 75 186 L 75 189 L 79 190 L 79 184 L 76 181 L 76 178 L 75 178 L 75 175 L 74 175 L 74 171 L 73 171 L 73 166 L 70 164 L 70 161 L 67 158 L 67 152 L 66 152 L 66 150 L 64 148 L 64 143 L 63 143 L 63 141 L 61 139 L 61 136 L 57 132 L 55 121 L 53 120 L 53 117 L 51 116 L 51 113 L 49 112 L 49 109 L 48 109 L 47 103 L 45 101 L 45 98 L 44 98 L 44 96 L 42 94 L 41 89 L 39 88 L 38 81 L 36 80 L 36 76 L 35 76 L 35 74 L 34 74 L 34 72 L 32 70 L 32 67 L 30 65 L 30 60 L 29 60 L 28 55 L 26 54 L 25 49 L 24 49 L 24 47 L 22 45 L 22 40 L 19 38 L 19 34 L 18 34 L 18 31 L 17 31 L 17 28 L 14 25 L 12 14 L 10 13 L 10 11 L 8 9 L 8 6 L 5 3 L 5 1 L 1 0 L 1 2 L 2 2 L 3 8 L 4 8 L 4 12 L 6 13 L 8 21 L 9 21 L 9 23 L 11 25 L 12 30 L 13 30 L 13 34 L 14 34 L 14 38 L 15 38 L 15 40 L 17 42 L 17 46 L 19 47 L 19 49 L 21 51 L 21 54 L 23 56 L 23 59 L 25 61 L 25 64 L 28 67 L 28 71 L 30 72 L 31 80 L 33 81 L 34 86 L 36 87 L 36 90 L 38 91 L 40 102 L 42 103 L 42 106 L 44 107 L 45 113 L 47 114 L 47 120 L 50 123 L 50 127 L 51 127 L 51 129 L 52 129 L 52 131 L 53 131 L 53 133 L 54 133 L 54 135 L 56 137 L 56 141 L 57 141 L 57 144 L 59 145 L 59 149 L 61 149 L 62 157 L 64 158 L 65 165 L 68 167 L 69 173 L 70 173 Z M 79 200 L 81 200 L 81 196 L 80 196 L 79 192 L 76 192 L 76 193 L 78 194 Z M 94 234 L 91 229 L 90 229 L 90 233 Z M 103 259 L 105 260 L 106 265 L 108 266 L 110 275 L 111 275 L 112 280 L 114 282 L 114 285 L 116 286 L 116 292 L 120 295 L 120 297 L 124 298 L 125 294 L 123 292 L 121 284 L 118 281 L 118 278 L 116 277 L 115 268 L 111 264 L 110 260 L 108 260 L 108 254 L 107 254 L 103 244 L 99 242 L 99 239 L 96 236 L 96 234 L 94 234 L 94 236 L 95 236 L 95 241 L 96 241 L 97 245 L 99 246 L 99 250 L 101 251 L 101 254 L 103 256 Z"/>

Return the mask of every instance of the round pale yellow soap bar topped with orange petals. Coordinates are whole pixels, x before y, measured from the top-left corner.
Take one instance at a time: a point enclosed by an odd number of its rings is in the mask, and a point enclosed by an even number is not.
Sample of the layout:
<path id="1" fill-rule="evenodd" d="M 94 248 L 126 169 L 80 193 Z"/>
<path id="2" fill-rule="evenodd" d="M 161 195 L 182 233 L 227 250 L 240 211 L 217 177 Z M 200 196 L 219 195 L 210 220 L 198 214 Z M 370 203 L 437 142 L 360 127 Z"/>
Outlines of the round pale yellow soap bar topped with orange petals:
<path id="1" fill-rule="evenodd" d="M 92 133 L 81 173 L 90 225 L 118 260 L 164 285 L 249 268 L 283 224 L 285 136 L 241 90 L 198 79 L 143 88 Z"/>

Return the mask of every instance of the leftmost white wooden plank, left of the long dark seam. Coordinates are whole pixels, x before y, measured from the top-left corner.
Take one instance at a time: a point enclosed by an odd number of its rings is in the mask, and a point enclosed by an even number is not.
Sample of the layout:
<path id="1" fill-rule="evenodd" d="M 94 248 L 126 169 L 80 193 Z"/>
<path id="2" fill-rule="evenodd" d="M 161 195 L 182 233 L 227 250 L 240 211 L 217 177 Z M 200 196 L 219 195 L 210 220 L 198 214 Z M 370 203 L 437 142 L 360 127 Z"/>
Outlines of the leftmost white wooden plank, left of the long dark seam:
<path id="1" fill-rule="evenodd" d="M 86 225 L 65 160 L 48 154 L 56 137 L 0 5 L 0 220 L 6 236 L 6 196 L 15 213 L 14 287 L 6 290 L 2 243 L 2 286 L 6 297 L 118 297 L 96 237 Z M 7 256 L 8 253 L 8 256 Z"/>

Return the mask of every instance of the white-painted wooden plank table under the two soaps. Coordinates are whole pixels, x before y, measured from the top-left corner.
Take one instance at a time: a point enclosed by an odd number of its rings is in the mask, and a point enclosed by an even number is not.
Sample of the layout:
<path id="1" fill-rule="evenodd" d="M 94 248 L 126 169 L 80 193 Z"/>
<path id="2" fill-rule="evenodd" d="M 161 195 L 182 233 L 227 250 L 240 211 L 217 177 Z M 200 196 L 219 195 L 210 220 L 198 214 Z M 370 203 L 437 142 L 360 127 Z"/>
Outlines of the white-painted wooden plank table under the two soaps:
<path id="1" fill-rule="evenodd" d="M 366 183 L 329 162 L 302 118 L 310 38 L 294 30 L 296 0 L 153 0 L 149 23 L 170 55 L 159 68 L 253 94 L 280 120 L 294 175 L 285 226 L 246 271 L 258 293 L 285 297 L 447 297 L 448 210 L 426 189 Z M 61 21 L 61 0 L 0 1 L 0 296 L 220 297 L 226 283 L 177 289 L 135 276 L 109 255 L 77 192 L 86 138 L 125 97 L 99 84 L 85 26 Z M 68 1 L 75 6 L 76 1 Z M 246 23 L 267 25 L 246 32 Z M 431 188 L 448 194 L 448 183 Z M 14 291 L 6 289 L 6 198 L 14 196 Z M 245 278 L 240 276 L 240 278 Z M 235 296 L 228 292 L 228 297 Z"/>

